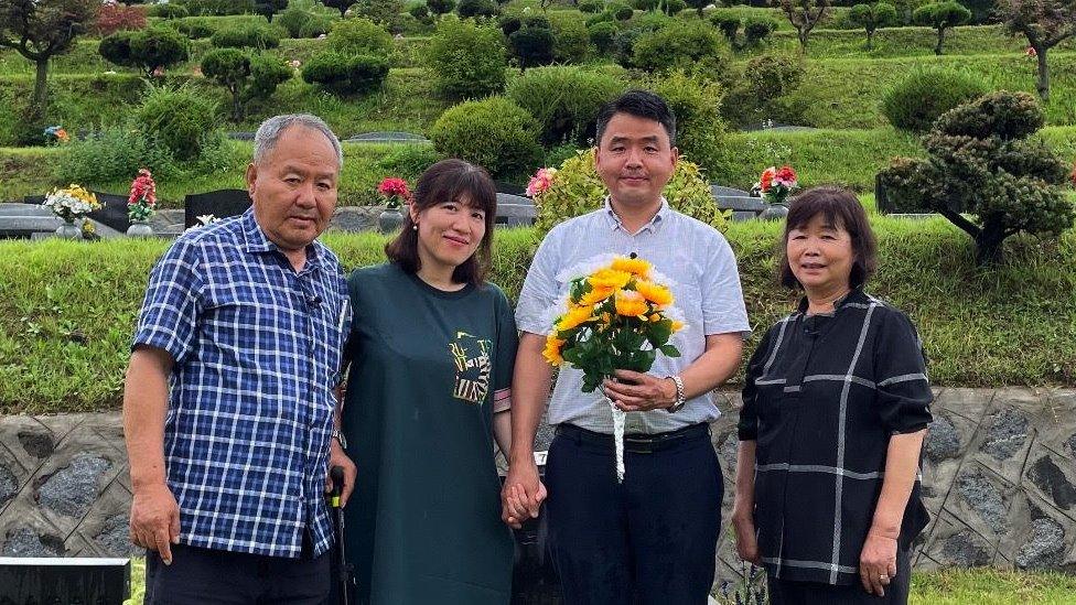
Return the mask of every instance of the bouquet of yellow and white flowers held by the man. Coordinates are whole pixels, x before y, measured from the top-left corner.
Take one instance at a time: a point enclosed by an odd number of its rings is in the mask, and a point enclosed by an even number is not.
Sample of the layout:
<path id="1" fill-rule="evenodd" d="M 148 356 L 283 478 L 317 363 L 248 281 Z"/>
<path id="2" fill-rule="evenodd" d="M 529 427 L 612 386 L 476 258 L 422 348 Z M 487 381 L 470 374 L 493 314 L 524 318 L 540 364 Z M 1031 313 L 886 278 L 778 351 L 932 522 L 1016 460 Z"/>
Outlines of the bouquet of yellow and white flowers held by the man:
<path id="1" fill-rule="evenodd" d="M 568 296 L 555 310 L 542 355 L 553 366 L 568 363 L 581 370 L 583 392 L 601 388 L 618 369 L 649 371 L 658 353 L 680 356 L 669 343 L 684 327 L 672 306 L 671 282 L 646 260 L 596 257 L 558 279 L 569 282 Z M 625 412 L 605 400 L 613 412 L 616 474 L 623 480 Z"/>

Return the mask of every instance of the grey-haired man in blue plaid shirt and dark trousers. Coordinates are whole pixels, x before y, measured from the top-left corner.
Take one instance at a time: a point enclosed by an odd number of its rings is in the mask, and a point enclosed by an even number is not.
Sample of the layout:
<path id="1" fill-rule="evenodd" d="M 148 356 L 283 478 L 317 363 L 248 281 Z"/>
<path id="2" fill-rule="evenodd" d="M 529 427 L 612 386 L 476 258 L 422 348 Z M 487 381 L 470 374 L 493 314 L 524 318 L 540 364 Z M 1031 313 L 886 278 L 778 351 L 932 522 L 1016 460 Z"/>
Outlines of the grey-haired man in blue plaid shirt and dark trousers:
<path id="1" fill-rule="evenodd" d="M 355 466 L 333 387 L 351 322 L 336 257 L 340 141 L 313 116 L 255 136 L 252 206 L 182 235 L 150 274 L 123 393 L 146 603 L 321 603 L 329 465 Z"/>

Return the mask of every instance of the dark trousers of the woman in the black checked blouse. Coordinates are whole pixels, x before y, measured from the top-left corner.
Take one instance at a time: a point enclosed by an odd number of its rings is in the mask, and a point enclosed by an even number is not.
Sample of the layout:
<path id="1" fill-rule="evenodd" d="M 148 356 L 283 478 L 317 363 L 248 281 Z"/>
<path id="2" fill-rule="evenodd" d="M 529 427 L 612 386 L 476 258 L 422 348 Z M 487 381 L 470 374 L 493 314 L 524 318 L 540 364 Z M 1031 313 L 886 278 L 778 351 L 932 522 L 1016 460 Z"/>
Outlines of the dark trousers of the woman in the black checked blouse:
<path id="1" fill-rule="evenodd" d="M 912 565 L 906 550 L 896 551 L 896 576 L 885 586 L 885 596 L 876 596 L 853 585 L 831 586 L 817 582 L 794 582 L 767 577 L 772 605 L 905 605 L 912 585 Z"/>

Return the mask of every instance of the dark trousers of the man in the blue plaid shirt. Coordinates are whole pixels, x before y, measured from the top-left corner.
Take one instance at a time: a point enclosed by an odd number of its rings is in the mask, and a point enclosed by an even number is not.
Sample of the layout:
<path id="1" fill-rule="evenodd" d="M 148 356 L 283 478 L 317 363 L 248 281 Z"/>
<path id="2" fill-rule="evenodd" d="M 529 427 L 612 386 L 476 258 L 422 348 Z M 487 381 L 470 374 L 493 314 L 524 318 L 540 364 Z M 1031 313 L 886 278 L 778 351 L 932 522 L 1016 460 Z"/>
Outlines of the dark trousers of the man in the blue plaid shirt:
<path id="1" fill-rule="evenodd" d="M 287 559 L 172 545 L 172 564 L 146 554 L 146 605 L 322 605 L 331 552 Z"/>

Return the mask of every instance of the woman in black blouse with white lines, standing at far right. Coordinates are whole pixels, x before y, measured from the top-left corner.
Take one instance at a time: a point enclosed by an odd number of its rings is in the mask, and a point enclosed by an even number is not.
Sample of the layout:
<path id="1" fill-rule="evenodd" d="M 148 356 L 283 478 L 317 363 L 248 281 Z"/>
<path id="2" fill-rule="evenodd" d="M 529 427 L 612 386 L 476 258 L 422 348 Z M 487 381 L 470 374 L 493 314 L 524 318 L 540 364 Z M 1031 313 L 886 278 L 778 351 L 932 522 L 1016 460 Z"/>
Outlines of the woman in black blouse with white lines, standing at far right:
<path id="1" fill-rule="evenodd" d="M 919 452 L 933 399 L 901 311 L 863 292 L 875 266 L 851 193 L 793 199 L 781 281 L 798 309 L 747 366 L 732 522 L 775 605 L 907 602 L 908 551 L 928 514 Z"/>

